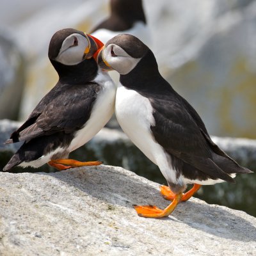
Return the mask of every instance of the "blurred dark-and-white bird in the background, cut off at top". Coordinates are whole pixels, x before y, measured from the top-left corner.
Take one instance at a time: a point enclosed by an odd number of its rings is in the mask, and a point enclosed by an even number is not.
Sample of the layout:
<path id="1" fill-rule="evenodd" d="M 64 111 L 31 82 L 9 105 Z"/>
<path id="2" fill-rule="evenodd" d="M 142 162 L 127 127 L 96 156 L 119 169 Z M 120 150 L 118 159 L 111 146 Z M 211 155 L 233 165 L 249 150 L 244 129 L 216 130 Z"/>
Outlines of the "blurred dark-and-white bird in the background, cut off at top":
<path id="1" fill-rule="evenodd" d="M 110 0 L 110 16 L 90 31 L 104 44 L 116 35 L 127 33 L 150 44 L 150 31 L 142 0 Z"/>

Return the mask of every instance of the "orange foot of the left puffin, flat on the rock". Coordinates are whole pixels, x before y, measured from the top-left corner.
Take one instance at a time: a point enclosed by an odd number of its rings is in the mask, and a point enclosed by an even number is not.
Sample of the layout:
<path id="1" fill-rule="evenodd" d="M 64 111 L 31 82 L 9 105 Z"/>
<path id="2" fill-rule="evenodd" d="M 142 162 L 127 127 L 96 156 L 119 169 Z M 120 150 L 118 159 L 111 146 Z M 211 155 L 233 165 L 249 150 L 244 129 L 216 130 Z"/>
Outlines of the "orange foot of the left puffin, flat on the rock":
<path id="1" fill-rule="evenodd" d="M 73 159 L 52 159 L 48 162 L 49 165 L 53 166 L 58 170 L 67 170 L 79 166 L 95 166 L 102 164 L 100 161 L 80 162 Z"/>

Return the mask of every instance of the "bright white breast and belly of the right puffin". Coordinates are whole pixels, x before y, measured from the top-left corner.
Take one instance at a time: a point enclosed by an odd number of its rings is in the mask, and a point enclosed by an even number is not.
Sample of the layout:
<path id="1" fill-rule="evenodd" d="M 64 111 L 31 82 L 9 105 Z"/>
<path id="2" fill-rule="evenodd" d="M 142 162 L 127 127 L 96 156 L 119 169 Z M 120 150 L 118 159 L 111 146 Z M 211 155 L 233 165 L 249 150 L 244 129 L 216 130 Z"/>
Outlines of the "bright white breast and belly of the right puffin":
<path id="1" fill-rule="evenodd" d="M 182 183 L 182 177 L 179 180 L 176 178 L 170 157 L 164 152 L 163 147 L 154 140 L 150 130 L 150 125 L 155 125 L 153 111 L 154 109 L 146 97 L 118 84 L 115 113 L 123 131 L 148 159 L 159 166 L 166 180 L 176 184 Z"/>

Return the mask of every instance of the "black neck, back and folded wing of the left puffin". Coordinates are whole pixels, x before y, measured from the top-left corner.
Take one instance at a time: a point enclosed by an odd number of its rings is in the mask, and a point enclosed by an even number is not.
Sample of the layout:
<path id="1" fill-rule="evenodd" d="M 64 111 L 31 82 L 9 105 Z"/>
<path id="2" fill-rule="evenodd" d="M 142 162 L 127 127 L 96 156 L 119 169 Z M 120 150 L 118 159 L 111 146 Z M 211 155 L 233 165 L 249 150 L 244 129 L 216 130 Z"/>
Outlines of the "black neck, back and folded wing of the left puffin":
<path id="1" fill-rule="evenodd" d="M 99 86 L 91 82 L 98 70 L 95 60 L 91 58 L 74 66 L 52 62 L 59 68 L 60 79 L 40 100 L 28 120 L 13 132 L 10 137 L 13 142 L 31 140 L 36 136 L 59 131 L 74 132 L 90 118 Z"/>

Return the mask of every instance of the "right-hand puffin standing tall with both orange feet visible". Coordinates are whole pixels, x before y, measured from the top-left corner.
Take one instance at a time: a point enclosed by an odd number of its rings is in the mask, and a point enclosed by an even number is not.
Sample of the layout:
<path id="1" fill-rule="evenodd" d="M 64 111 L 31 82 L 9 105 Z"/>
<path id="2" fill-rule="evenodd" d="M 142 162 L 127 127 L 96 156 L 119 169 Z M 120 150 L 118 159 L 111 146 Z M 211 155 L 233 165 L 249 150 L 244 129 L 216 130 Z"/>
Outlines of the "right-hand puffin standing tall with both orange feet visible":
<path id="1" fill-rule="evenodd" d="M 161 194 L 172 202 L 164 209 L 134 205 L 139 216 L 168 216 L 202 185 L 235 182 L 236 173 L 252 173 L 211 140 L 196 110 L 161 76 L 153 52 L 140 39 L 117 35 L 93 58 L 104 70 L 120 74 L 115 100 L 118 123 L 168 184 L 161 186 Z M 193 187 L 186 192 L 189 184 Z"/>

